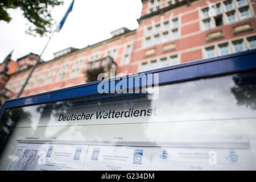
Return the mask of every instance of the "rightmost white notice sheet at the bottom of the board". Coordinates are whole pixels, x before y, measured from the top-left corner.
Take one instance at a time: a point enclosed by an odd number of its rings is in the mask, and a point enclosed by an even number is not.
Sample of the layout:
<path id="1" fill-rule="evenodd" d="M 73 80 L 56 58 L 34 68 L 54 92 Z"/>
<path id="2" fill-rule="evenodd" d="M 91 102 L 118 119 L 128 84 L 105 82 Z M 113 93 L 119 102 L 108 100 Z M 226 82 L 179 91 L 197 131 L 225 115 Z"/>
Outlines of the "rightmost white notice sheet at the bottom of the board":
<path id="1" fill-rule="evenodd" d="M 249 149 L 160 148 L 152 154 L 152 170 L 252 170 Z"/>

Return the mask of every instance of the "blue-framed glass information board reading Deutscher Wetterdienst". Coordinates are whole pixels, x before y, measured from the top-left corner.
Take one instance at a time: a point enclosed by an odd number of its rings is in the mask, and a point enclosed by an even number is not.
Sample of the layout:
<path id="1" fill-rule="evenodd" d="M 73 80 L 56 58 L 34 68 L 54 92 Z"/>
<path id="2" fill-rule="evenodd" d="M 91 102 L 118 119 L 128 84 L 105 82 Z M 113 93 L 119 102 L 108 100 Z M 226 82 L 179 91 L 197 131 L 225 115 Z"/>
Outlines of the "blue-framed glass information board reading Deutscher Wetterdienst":
<path id="1" fill-rule="evenodd" d="M 92 83 L 7 101 L 0 170 L 255 170 L 256 65 L 244 54 L 158 71 L 154 100 Z"/>

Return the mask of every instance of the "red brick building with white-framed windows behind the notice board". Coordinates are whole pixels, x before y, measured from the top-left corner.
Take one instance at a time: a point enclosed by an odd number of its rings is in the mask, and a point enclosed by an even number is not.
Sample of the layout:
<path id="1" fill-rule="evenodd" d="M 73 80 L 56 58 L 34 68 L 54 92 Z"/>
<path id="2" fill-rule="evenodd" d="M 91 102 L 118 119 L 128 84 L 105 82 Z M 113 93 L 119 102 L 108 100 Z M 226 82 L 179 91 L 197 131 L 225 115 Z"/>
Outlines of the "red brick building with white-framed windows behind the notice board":
<path id="1" fill-rule="evenodd" d="M 56 52 L 36 67 L 22 96 L 96 81 L 98 73 L 109 74 L 110 68 L 126 75 L 256 48 L 254 0 L 142 3 L 137 30 L 120 28 L 110 39 Z M 1 72 L 4 87 L 11 90 L 6 98 L 18 94 L 35 60 L 36 55 L 24 56 L 12 66 L 15 72 Z"/>

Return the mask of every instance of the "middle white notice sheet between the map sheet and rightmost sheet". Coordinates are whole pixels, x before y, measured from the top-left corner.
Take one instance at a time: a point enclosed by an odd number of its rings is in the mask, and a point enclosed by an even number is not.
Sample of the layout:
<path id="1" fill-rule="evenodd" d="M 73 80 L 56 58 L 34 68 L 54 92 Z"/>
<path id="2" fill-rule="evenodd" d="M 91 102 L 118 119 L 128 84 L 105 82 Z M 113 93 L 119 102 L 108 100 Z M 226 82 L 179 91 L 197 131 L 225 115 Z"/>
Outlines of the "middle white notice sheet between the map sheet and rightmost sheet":
<path id="1" fill-rule="evenodd" d="M 86 170 L 150 170 L 151 147 L 89 146 Z"/>

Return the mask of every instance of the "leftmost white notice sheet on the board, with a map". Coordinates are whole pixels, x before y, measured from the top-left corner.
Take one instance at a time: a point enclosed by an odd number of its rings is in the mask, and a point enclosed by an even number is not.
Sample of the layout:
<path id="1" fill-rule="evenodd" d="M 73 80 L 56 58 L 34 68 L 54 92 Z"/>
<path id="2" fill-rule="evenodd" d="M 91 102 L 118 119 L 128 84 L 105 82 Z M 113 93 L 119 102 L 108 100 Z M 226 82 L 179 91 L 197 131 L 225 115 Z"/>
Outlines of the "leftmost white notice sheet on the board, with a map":
<path id="1" fill-rule="evenodd" d="M 19 143 L 7 170 L 82 170 L 88 146 Z"/>

